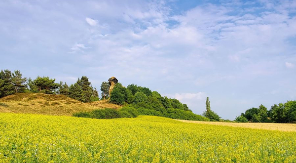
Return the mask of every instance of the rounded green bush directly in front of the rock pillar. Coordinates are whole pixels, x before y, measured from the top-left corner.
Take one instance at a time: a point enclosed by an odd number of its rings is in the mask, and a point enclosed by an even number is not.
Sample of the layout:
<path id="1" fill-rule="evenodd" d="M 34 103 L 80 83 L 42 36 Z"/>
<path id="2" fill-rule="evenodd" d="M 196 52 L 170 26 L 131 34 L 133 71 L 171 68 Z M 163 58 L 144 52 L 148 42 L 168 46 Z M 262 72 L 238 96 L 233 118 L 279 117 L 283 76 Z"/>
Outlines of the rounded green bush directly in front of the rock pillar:
<path id="1" fill-rule="evenodd" d="M 127 100 L 126 94 L 126 88 L 120 82 L 117 82 L 111 91 L 110 101 L 122 105 Z"/>

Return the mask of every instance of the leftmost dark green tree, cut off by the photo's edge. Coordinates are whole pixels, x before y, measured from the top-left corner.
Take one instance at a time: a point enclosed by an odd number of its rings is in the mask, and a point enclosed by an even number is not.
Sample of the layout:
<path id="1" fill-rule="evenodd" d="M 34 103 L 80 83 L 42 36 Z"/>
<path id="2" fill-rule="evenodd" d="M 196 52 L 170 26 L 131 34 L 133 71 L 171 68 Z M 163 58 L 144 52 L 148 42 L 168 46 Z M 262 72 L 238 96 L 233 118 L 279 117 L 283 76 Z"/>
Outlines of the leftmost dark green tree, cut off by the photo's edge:
<path id="1" fill-rule="evenodd" d="M 12 84 L 12 75 L 10 70 L 1 70 L 0 72 L 0 97 L 4 97 L 15 93 L 14 85 Z"/>

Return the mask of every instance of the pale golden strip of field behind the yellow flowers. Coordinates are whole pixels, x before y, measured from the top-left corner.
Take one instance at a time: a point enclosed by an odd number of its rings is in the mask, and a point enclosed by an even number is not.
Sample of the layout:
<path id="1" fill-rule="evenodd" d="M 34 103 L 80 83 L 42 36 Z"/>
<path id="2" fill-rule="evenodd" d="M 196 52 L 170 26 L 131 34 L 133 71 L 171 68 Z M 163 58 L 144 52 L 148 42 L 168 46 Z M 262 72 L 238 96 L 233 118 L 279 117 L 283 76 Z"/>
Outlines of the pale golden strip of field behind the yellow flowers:
<path id="1" fill-rule="evenodd" d="M 202 124 L 214 124 L 214 125 L 224 125 L 224 126 L 232 126 L 232 127 L 245 127 L 245 128 L 296 132 L 296 124 L 291 124 L 291 123 L 251 123 L 251 122 L 234 123 L 234 122 L 202 122 L 202 121 L 187 121 L 187 120 L 177 120 L 177 121 L 187 122 L 187 123 L 202 123 Z"/>

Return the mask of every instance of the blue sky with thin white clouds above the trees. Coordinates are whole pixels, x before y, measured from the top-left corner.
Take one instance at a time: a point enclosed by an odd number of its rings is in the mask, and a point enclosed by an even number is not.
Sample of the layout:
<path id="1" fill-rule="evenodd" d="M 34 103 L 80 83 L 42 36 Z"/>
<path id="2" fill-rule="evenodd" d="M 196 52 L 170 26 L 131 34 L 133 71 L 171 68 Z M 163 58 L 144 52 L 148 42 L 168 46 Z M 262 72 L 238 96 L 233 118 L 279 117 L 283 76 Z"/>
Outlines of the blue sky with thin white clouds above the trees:
<path id="1" fill-rule="evenodd" d="M 0 0 L 0 69 L 114 76 L 234 120 L 296 100 L 296 0 Z"/>

